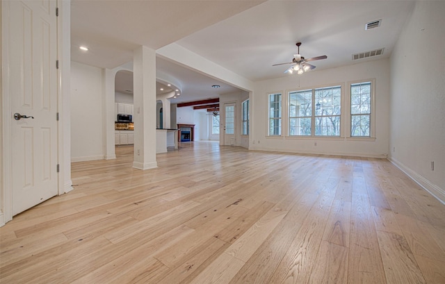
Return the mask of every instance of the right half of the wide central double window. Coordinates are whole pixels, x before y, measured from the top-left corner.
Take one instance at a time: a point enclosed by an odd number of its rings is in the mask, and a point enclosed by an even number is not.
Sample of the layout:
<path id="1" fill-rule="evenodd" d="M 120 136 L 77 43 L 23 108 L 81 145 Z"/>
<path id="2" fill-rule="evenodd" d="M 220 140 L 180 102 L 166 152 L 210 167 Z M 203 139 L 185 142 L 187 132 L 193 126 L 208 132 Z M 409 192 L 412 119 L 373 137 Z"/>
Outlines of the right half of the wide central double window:
<path id="1" fill-rule="evenodd" d="M 341 87 L 315 89 L 315 135 L 340 136 Z"/>

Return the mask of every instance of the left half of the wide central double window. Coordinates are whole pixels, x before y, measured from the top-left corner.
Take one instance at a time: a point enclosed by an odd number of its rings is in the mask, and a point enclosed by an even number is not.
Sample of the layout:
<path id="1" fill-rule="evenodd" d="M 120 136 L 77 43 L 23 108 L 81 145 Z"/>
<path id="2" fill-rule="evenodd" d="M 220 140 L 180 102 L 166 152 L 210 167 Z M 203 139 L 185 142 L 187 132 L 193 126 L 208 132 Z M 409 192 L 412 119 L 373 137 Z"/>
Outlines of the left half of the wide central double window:
<path id="1" fill-rule="evenodd" d="M 312 90 L 289 93 L 289 135 L 311 135 Z"/>

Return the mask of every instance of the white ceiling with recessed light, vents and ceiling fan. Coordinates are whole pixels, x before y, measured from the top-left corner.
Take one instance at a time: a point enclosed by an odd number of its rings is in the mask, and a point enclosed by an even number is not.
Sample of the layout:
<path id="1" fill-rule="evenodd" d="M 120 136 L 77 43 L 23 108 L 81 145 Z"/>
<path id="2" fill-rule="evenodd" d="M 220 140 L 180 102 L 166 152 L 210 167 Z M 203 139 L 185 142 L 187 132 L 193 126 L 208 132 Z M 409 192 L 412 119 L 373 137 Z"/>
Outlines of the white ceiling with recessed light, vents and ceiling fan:
<path id="1" fill-rule="evenodd" d="M 327 56 L 311 62 L 311 72 L 389 57 L 413 7 L 413 1 L 72 0 L 72 60 L 114 68 L 131 61 L 141 44 L 159 49 L 175 42 L 251 81 L 298 76 L 283 74 L 288 65 L 272 66 L 290 62 L 296 42 L 305 58 Z M 380 27 L 365 31 L 378 19 Z M 352 60 L 353 53 L 380 48 L 382 56 Z M 180 83 L 173 103 L 237 90 L 162 58 L 156 70 Z"/>

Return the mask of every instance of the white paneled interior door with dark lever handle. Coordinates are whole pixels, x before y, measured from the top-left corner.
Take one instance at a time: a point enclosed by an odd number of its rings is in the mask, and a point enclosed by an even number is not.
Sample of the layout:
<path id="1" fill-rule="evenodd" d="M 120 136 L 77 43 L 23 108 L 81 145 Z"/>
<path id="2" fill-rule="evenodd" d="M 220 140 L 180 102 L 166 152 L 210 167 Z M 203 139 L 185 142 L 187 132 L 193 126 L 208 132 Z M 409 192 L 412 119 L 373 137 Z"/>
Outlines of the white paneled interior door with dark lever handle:
<path id="1" fill-rule="evenodd" d="M 12 209 L 17 215 L 58 193 L 57 18 L 55 0 L 6 2 L 9 32 L 3 44 L 8 44 Z"/>

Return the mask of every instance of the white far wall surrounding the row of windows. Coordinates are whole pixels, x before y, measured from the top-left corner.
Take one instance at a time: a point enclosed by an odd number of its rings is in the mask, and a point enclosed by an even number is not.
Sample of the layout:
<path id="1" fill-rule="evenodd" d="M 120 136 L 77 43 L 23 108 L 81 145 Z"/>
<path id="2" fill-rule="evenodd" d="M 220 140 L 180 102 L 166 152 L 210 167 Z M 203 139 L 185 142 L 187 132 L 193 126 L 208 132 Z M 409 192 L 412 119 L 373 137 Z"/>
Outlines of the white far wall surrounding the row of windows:
<path id="1" fill-rule="evenodd" d="M 282 92 L 303 88 L 321 87 L 330 84 L 375 78 L 375 141 L 357 141 L 323 137 L 266 137 L 268 92 Z M 255 83 L 250 98 L 250 148 L 254 150 L 289 151 L 296 153 L 323 153 L 329 155 L 349 155 L 387 157 L 389 141 L 389 60 L 375 60 L 333 69 L 315 70 L 300 76 L 294 74 Z M 344 90 L 345 92 L 346 90 Z M 346 106 L 343 103 L 342 109 Z M 285 108 L 285 106 L 284 106 Z M 347 119 L 347 117 L 344 117 Z M 344 122 L 341 124 L 344 126 Z M 344 131 L 347 133 L 348 131 Z M 316 143 L 316 146 L 315 146 Z"/>

